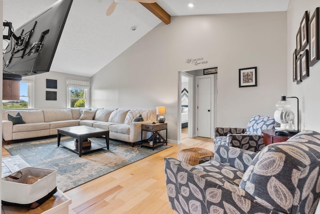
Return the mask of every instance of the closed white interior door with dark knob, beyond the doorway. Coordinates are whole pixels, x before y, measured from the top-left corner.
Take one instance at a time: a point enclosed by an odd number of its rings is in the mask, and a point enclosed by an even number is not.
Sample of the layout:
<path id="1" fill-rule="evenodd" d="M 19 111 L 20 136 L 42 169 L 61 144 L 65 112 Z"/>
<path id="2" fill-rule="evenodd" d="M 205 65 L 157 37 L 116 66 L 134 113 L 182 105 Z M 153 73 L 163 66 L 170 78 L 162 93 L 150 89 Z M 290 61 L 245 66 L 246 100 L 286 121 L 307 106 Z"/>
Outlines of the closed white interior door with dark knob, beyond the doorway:
<path id="1" fill-rule="evenodd" d="M 197 135 L 211 137 L 211 78 L 197 79 Z"/>

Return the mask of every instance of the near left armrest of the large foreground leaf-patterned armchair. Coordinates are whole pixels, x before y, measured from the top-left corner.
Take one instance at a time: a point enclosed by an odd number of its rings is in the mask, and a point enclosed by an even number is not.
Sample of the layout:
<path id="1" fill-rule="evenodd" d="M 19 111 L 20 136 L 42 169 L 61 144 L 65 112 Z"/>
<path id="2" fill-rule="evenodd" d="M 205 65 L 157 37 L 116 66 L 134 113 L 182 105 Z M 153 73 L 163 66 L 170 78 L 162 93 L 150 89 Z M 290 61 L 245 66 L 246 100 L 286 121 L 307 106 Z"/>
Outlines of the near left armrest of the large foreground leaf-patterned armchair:
<path id="1" fill-rule="evenodd" d="M 276 213 L 222 176 L 172 157 L 164 158 L 164 173 L 169 205 L 177 213 Z"/>

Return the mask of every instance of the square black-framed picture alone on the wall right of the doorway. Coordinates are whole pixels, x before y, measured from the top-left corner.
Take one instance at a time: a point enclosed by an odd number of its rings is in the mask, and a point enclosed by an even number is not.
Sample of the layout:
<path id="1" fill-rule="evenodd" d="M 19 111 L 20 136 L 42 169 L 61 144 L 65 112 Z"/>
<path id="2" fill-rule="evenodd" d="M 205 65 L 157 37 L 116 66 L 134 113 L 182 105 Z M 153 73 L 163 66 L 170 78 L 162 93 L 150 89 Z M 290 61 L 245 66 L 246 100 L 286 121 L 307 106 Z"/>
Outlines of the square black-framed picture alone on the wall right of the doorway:
<path id="1" fill-rule="evenodd" d="M 257 67 L 246 67 L 239 69 L 239 87 L 257 86 Z"/>

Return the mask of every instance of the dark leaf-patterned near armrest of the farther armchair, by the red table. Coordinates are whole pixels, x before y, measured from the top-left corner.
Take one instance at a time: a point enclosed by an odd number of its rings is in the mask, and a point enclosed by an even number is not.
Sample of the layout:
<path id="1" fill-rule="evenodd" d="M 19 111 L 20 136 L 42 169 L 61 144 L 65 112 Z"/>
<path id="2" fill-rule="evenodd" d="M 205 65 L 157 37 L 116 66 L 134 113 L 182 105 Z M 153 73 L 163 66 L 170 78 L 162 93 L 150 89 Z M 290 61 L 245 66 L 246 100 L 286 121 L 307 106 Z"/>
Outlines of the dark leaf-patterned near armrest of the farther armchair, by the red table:
<path id="1" fill-rule="evenodd" d="M 229 142 L 229 146 L 254 152 L 258 152 L 265 146 L 263 136 L 256 134 L 228 134 L 226 140 Z"/>

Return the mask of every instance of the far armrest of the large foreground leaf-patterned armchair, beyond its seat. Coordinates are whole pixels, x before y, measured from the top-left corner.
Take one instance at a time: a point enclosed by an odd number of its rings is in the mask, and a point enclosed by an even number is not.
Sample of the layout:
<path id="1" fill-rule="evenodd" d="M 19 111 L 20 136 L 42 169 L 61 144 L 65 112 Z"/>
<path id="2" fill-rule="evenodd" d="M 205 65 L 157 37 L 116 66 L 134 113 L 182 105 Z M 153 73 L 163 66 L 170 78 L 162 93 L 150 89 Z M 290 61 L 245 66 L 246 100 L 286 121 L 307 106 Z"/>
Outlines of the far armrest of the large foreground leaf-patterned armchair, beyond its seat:
<path id="1" fill-rule="evenodd" d="M 245 171 L 252 162 L 256 152 L 227 145 L 214 146 L 213 160 L 227 163 L 230 166 Z"/>

